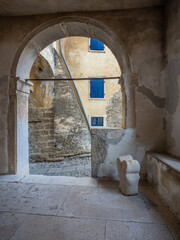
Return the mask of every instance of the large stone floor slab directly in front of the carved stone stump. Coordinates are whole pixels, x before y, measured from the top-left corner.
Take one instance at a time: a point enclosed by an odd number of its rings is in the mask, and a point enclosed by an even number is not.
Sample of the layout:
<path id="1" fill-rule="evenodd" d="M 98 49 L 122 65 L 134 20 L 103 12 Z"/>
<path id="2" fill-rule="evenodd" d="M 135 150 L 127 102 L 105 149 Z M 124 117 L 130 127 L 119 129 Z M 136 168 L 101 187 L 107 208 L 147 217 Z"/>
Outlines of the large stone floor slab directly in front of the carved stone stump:
<path id="1" fill-rule="evenodd" d="M 58 216 L 152 222 L 140 194 L 124 196 L 116 188 L 73 186 Z"/>

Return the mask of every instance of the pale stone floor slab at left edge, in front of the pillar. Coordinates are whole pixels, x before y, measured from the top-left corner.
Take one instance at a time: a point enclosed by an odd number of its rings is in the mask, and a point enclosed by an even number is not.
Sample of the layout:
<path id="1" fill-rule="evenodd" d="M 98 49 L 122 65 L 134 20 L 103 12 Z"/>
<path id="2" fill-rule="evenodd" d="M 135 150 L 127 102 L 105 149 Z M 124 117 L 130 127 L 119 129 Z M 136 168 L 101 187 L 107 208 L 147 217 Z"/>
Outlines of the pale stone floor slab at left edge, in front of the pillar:
<path id="1" fill-rule="evenodd" d="M 0 184 L 0 211 L 56 215 L 71 186 Z"/>

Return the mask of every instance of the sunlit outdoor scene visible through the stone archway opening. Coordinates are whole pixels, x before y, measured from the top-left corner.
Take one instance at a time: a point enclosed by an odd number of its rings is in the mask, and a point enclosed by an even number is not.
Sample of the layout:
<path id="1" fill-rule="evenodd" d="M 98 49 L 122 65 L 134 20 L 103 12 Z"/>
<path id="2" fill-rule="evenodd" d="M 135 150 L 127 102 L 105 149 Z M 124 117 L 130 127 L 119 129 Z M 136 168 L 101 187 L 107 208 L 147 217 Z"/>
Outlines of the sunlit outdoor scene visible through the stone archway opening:
<path id="1" fill-rule="evenodd" d="M 121 88 L 114 77 L 121 74 L 119 65 L 104 44 L 103 52 L 90 51 L 89 40 L 56 41 L 31 68 L 31 174 L 91 176 L 91 128 L 121 128 Z M 76 81 L 68 82 L 68 77 Z"/>

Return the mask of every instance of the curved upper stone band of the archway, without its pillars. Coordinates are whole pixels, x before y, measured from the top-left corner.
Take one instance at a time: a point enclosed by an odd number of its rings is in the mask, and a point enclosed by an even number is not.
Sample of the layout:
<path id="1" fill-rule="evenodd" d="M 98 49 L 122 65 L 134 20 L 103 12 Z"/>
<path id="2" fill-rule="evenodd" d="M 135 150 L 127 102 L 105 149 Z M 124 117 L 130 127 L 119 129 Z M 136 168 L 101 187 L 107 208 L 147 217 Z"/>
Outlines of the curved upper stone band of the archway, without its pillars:
<path id="1" fill-rule="evenodd" d="M 39 52 L 57 39 L 70 36 L 93 37 L 103 42 L 116 57 L 122 74 L 131 72 L 124 43 L 106 25 L 85 17 L 64 17 L 40 25 L 24 38 L 16 52 L 11 76 L 28 78 L 28 71 Z"/>

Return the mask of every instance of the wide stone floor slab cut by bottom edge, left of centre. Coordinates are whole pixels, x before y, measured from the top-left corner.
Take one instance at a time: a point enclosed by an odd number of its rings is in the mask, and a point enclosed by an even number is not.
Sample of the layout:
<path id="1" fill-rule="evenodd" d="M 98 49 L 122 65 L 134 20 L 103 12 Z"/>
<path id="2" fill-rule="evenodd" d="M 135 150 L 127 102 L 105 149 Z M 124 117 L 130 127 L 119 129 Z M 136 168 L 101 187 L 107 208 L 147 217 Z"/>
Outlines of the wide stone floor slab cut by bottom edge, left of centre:
<path id="1" fill-rule="evenodd" d="M 9 240 L 104 240 L 105 221 L 29 216 Z"/>

